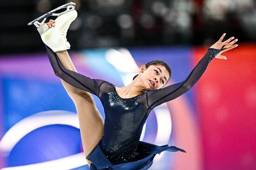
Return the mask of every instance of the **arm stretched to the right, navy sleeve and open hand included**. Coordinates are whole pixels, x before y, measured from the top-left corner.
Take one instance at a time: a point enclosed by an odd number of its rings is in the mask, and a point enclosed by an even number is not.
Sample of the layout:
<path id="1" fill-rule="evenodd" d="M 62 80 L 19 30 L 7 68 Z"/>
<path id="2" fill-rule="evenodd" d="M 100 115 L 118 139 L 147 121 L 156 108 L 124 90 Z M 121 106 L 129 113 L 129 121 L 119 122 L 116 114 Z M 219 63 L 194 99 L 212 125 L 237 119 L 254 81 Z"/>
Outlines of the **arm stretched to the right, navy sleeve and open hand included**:
<path id="1" fill-rule="evenodd" d="M 195 66 L 195 68 L 190 72 L 189 76 L 183 82 L 170 85 L 166 88 L 148 91 L 148 108 L 153 109 L 154 107 L 164 102 L 171 101 L 187 92 L 200 79 L 200 77 L 208 67 L 210 61 L 214 57 L 227 59 L 225 56 L 221 56 L 221 53 L 235 48 L 237 46 L 235 44 L 237 39 L 233 40 L 234 38 L 232 37 L 229 38 L 227 41 L 222 42 L 224 37 L 225 34 L 222 35 L 222 37 L 219 39 L 219 41 L 216 42 L 216 44 L 210 47 L 210 49 L 207 51 L 204 57 L 202 57 L 200 62 Z"/>

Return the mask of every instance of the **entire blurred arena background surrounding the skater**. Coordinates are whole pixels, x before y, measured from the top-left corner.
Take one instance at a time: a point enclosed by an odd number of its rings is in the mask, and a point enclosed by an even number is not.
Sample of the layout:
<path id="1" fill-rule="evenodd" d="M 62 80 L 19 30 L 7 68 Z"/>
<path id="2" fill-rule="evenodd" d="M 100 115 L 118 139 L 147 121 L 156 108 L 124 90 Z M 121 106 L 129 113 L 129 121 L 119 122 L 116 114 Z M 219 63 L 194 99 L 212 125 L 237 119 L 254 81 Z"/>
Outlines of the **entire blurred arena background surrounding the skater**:
<path id="1" fill-rule="evenodd" d="M 3 170 L 88 170 L 74 103 L 36 27 L 27 25 L 67 2 L 0 2 Z M 187 151 L 162 152 L 150 170 L 255 170 L 256 0 L 72 2 L 78 17 L 67 39 L 74 65 L 117 87 L 152 60 L 169 64 L 169 84 L 181 82 L 224 32 L 238 38 L 239 46 L 223 53 L 227 60 L 214 59 L 189 92 L 150 113 L 141 140 Z"/>

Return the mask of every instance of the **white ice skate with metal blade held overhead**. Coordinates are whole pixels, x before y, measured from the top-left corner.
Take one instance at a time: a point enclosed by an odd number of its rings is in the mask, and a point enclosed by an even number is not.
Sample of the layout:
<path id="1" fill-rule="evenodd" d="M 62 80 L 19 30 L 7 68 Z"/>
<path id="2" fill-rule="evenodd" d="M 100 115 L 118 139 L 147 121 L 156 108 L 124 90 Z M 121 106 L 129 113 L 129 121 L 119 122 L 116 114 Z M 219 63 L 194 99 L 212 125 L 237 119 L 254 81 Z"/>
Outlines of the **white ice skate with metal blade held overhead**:
<path id="1" fill-rule="evenodd" d="M 67 42 L 67 30 L 69 25 L 77 17 L 77 12 L 74 10 L 75 3 L 70 2 L 63 6 L 60 6 L 42 16 L 28 23 L 28 25 L 34 24 L 40 33 L 42 41 L 54 52 L 70 49 L 70 44 Z M 67 8 L 62 13 L 54 13 L 60 9 Z M 55 19 L 55 26 L 49 28 L 46 21 L 49 16 L 57 16 Z M 39 20 L 43 19 L 41 22 Z"/>

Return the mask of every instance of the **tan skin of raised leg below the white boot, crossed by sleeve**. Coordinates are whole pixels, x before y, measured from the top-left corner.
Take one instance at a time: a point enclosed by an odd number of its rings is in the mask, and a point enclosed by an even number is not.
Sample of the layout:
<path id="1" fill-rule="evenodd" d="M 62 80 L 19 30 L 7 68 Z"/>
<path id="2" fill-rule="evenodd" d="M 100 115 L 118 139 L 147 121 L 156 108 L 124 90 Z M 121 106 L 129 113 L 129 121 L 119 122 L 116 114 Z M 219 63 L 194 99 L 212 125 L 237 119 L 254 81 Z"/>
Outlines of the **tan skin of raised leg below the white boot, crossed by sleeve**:
<path id="1" fill-rule="evenodd" d="M 77 72 L 67 50 L 58 51 L 56 54 L 66 69 Z M 67 94 L 74 101 L 80 124 L 83 150 L 85 156 L 87 156 L 103 136 L 104 120 L 95 106 L 91 94 L 75 88 L 63 80 L 61 80 L 61 82 L 66 89 Z M 87 160 L 87 162 L 90 166 L 91 162 L 89 160 Z"/>

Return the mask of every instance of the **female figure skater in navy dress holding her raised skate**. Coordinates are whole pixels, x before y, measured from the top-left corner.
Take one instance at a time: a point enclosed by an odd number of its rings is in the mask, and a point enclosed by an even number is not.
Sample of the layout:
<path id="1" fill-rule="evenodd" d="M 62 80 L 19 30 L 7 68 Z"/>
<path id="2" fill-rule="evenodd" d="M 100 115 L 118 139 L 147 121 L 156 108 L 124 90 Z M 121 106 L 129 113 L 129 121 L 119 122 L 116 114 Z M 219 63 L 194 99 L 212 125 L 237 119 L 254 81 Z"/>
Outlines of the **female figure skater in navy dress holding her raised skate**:
<path id="1" fill-rule="evenodd" d="M 66 38 L 69 25 L 77 17 L 74 5 L 66 4 L 67 11 L 55 14 L 57 19 L 47 24 L 44 23 L 45 19 L 41 23 L 38 20 L 53 15 L 56 9 L 31 23 L 37 24 L 54 73 L 61 78 L 74 101 L 90 169 L 148 170 L 157 153 L 186 152 L 175 146 L 158 146 L 140 141 L 143 125 L 153 108 L 192 88 L 214 57 L 227 59 L 221 54 L 237 47 L 237 39 L 232 37 L 223 41 L 226 35 L 223 34 L 183 82 L 164 87 L 171 77 L 171 69 L 162 61 L 152 61 L 140 67 L 140 73 L 128 86 L 118 88 L 110 82 L 77 73 L 67 53 L 70 44 Z M 105 112 L 104 121 L 90 93 L 100 98 Z"/>

